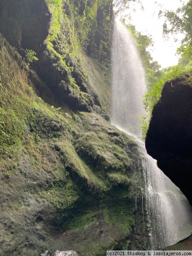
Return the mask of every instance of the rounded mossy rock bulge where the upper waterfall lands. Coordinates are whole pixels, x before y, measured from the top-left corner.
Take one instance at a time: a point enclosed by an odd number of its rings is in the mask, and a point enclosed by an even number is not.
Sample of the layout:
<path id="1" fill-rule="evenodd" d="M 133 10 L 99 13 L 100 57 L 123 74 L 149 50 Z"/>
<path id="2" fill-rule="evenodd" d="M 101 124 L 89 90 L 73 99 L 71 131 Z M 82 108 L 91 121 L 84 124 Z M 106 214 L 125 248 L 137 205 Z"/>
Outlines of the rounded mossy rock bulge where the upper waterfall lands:
<path id="1" fill-rule="evenodd" d="M 131 137 L 119 133 L 95 113 L 81 116 L 77 125 L 79 132 L 76 133 L 75 148 L 91 169 L 102 173 L 113 170 L 125 173 L 130 169 L 132 159 L 139 154 Z M 119 136 L 110 135 L 109 130 L 117 131 Z"/>

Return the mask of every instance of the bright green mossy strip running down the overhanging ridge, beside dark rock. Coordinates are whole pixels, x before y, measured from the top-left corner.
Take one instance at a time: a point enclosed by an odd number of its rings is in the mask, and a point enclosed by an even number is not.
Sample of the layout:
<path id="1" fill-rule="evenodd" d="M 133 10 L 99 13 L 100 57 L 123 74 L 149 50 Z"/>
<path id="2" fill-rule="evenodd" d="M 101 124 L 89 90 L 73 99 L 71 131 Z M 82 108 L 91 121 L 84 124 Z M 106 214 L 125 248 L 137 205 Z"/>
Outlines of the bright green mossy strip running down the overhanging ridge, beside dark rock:
<path id="1" fill-rule="evenodd" d="M 63 2 L 63 4 L 69 4 L 66 1 Z M 85 76 L 81 64 L 79 65 L 77 63 L 81 62 L 79 57 L 79 39 L 74 34 L 73 18 L 69 20 L 61 8 L 61 3 L 62 1 L 47 1 L 49 10 L 52 13 L 51 26 L 47 37 L 48 55 L 54 60 L 55 69 L 66 74 L 64 81 L 60 83 L 60 88 L 70 98 L 76 99 L 79 105 L 87 108 L 87 111 L 91 111 L 93 105 L 92 100 L 86 94 L 87 91 L 86 93 L 81 92 L 81 89 L 86 87 L 86 84 L 84 83 Z M 55 44 L 57 47 L 55 47 Z M 78 76 L 81 79 L 80 86 L 79 78 L 76 79 L 74 77 L 74 75 L 76 76 L 75 71 L 79 73 Z"/>

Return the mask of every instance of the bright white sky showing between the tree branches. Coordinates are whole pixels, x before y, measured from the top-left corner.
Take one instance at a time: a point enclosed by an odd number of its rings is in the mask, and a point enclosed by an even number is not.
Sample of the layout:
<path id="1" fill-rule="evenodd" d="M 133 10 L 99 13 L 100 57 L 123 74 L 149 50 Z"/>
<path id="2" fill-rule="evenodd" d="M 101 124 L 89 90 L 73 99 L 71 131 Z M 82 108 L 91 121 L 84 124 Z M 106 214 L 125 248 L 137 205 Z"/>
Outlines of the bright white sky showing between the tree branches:
<path id="1" fill-rule="evenodd" d="M 143 35 L 152 35 L 154 48 L 150 52 L 154 61 L 158 61 L 162 67 L 176 65 L 178 56 L 175 56 L 175 53 L 180 42 L 175 42 L 173 37 L 169 41 L 165 41 L 162 36 L 164 19 L 163 17 L 159 19 L 158 13 L 163 8 L 174 11 L 182 3 L 180 0 L 143 0 L 142 4 L 144 11 L 138 5 L 137 11 L 131 14 L 131 24 L 135 25 L 136 30 L 142 32 Z M 181 35 L 179 39 L 182 39 Z"/>

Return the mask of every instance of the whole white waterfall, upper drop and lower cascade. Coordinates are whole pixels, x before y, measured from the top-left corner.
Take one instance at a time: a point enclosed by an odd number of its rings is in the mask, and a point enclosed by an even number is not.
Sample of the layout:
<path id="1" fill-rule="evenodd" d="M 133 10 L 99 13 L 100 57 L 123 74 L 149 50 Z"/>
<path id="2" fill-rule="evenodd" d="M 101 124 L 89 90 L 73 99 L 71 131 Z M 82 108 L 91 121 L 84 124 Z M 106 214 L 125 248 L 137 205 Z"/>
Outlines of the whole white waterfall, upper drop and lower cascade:
<path id="1" fill-rule="evenodd" d="M 143 151 L 140 166 L 145 183 L 149 236 L 152 249 L 160 250 L 191 234 L 191 208 L 138 139 L 141 134 L 139 116 L 144 112 L 141 101 L 146 90 L 145 74 L 128 29 L 119 20 L 113 32 L 112 73 L 111 122 L 133 135 Z"/>

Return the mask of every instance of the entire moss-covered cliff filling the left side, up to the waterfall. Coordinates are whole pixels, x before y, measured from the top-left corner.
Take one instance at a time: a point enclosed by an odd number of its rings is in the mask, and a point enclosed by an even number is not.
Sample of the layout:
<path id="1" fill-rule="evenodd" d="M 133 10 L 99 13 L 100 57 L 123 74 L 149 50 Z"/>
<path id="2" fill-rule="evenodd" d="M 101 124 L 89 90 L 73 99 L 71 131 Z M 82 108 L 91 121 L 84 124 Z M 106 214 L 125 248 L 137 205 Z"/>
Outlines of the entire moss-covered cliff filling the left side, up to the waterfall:
<path id="1" fill-rule="evenodd" d="M 140 150 L 107 121 L 112 1 L 0 7 L 0 254 L 145 248 Z"/>

